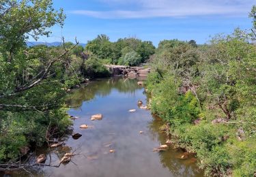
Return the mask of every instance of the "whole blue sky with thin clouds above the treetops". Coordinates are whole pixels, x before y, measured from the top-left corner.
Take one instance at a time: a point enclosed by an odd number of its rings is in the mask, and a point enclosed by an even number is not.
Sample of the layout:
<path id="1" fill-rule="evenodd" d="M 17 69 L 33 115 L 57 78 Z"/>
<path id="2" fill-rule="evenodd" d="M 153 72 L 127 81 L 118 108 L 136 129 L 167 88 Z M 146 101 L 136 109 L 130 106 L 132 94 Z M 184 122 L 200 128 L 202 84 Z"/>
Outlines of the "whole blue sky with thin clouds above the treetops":
<path id="1" fill-rule="evenodd" d="M 158 45 L 162 39 L 195 39 L 208 42 L 210 35 L 231 33 L 236 27 L 251 28 L 248 18 L 255 0 L 53 0 L 56 9 L 63 7 L 63 29 L 53 27 L 50 38 L 42 42 L 66 41 L 87 43 L 98 34 L 111 41 L 137 37 Z"/>

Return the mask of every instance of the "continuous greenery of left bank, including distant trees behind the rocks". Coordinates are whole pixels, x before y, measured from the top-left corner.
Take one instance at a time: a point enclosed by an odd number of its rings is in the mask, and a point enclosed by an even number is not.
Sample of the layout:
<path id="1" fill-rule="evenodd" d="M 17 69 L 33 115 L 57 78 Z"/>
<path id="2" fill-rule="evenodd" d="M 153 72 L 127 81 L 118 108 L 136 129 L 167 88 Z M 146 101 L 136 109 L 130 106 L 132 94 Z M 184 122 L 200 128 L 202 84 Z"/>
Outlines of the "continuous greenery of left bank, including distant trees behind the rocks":
<path id="1" fill-rule="evenodd" d="M 42 146 L 66 132 L 68 88 L 109 76 L 104 63 L 139 65 L 154 53 L 152 42 L 109 42 L 106 35 L 86 48 L 64 39 L 57 47 L 26 46 L 29 37 L 48 37 L 65 18 L 51 0 L 0 3 L 0 163 L 13 163 L 29 144 Z"/>

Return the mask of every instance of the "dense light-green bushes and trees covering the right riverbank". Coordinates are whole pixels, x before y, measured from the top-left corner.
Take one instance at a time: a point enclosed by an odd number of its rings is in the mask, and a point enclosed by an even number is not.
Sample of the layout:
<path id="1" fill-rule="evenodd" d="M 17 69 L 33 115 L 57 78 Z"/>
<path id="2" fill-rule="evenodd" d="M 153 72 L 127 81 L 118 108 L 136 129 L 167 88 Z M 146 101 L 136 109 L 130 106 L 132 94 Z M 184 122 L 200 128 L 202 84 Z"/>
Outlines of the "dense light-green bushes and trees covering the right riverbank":
<path id="1" fill-rule="evenodd" d="M 253 33 L 236 29 L 203 46 L 165 40 L 150 61 L 152 112 L 210 176 L 256 174 L 255 12 Z"/>

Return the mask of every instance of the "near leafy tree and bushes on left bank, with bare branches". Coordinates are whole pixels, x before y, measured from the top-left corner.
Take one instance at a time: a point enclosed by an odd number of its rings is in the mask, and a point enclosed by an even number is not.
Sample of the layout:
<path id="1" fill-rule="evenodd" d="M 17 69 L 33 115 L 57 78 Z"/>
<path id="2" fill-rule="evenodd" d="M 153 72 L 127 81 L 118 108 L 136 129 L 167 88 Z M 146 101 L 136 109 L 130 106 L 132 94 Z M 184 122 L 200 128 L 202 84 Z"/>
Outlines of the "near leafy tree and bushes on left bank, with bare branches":
<path id="1" fill-rule="evenodd" d="M 65 15 L 51 0 L 0 3 L 0 162 L 15 162 L 20 147 L 42 146 L 46 132 L 61 135 L 70 125 L 63 110 L 65 83 L 74 75 L 68 48 L 27 48 L 29 36 L 51 34 Z M 54 132 L 53 132 L 54 131 Z"/>

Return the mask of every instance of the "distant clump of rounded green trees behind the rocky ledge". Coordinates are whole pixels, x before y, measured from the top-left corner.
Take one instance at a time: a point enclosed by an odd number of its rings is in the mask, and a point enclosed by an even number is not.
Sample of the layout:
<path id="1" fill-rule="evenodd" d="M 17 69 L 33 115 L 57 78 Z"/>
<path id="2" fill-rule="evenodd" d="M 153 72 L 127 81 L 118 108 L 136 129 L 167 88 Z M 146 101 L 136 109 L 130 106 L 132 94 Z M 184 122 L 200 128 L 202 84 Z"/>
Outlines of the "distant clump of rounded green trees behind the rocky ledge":
<path id="1" fill-rule="evenodd" d="M 155 52 L 152 42 L 134 37 L 110 42 L 106 35 L 98 35 L 89 41 L 85 49 L 95 54 L 102 63 L 135 66 L 145 63 Z"/>

